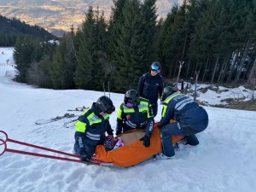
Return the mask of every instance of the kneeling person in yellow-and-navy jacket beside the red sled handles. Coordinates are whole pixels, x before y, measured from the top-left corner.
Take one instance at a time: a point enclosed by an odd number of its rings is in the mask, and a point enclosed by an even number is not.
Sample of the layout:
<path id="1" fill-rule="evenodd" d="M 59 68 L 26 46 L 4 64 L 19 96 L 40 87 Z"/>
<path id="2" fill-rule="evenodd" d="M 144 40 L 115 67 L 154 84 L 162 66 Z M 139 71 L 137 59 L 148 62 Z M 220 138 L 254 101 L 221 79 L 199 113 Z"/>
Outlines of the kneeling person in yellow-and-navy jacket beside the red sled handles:
<path id="1" fill-rule="evenodd" d="M 91 108 L 79 116 L 75 124 L 75 154 L 81 155 L 82 160 L 90 160 L 96 152 L 96 145 L 103 144 L 105 133 L 113 137 L 113 130 L 109 124 L 109 114 L 115 110 L 113 102 L 108 96 L 101 96 L 93 102 Z"/>

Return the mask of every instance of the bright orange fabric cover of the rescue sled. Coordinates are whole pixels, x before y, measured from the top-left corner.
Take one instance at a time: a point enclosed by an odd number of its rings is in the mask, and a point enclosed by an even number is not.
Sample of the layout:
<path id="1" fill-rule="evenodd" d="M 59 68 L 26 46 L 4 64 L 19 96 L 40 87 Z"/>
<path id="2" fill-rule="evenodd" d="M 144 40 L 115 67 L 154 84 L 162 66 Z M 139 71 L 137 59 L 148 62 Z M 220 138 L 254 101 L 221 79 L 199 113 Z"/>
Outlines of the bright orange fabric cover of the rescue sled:
<path id="1" fill-rule="evenodd" d="M 121 148 L 106 151 L 103 145 L 96 147 L 96 158 L 104 162 L 111 162 L 115 166 L 135 166 L 144 160 L 148 160 L 154 154 L 162 151 L 160 129 L 154 125 L 154 131 L 150 138 L 150 146 L 144 147 L 143 141 L 137 141 Z M 172 143 L 177 143 L 183 137 L 172 137 Z"/>

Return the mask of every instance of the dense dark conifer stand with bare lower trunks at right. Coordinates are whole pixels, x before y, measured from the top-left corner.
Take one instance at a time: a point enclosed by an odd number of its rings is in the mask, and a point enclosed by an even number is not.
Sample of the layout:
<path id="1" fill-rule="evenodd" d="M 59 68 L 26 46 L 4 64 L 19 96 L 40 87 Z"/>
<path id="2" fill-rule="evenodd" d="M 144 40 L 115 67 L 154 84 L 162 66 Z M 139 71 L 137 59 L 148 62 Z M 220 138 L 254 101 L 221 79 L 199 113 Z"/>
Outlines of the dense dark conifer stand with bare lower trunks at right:
<path id="1" fill-rule="evenodd" d="M 213 82 L 246 79 L 255 58 L 253 0 L 190 0 L 172 8 L 160 27 L 158 49 L 165 76 Z M 254 15 L 254 16 L 253 16 Z"/>

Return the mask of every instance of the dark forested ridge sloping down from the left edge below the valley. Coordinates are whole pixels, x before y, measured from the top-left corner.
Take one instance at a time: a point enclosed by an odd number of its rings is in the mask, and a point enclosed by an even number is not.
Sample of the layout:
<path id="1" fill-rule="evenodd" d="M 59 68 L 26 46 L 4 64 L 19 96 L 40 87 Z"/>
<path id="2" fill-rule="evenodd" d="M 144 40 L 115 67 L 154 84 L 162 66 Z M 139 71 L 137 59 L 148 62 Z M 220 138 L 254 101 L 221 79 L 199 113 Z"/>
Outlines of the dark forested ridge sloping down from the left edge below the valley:
<path id="1" fill-rule="evenodd" d="M 8 19 L 0 15 L 0 46 L 14 46 L 18 38 L 35 37 L 52 39 L 54 35 L 40 26 L 30 26 L 15 18 Z"/>

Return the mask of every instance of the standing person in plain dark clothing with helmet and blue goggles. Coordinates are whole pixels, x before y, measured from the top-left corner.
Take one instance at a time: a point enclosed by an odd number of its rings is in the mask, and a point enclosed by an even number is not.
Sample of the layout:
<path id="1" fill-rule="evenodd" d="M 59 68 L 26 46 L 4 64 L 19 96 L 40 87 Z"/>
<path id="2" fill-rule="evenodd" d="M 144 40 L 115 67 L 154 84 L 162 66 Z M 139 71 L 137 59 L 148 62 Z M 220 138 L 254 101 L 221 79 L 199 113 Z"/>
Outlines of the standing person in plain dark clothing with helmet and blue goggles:
<path id="1" fill-rule="evenodd" d="M 158 95 L 162 96 L 164 86 L 160 71 L 160 63 L 154 61 L 150 67 L 150 72 L 143 74 L 137 86 L 139 95 L 148 99 L 151 103 L 154 116 L 157 114 Z"/>

